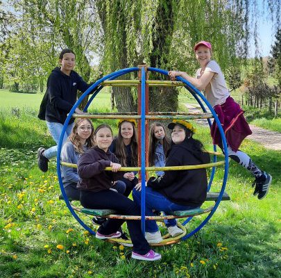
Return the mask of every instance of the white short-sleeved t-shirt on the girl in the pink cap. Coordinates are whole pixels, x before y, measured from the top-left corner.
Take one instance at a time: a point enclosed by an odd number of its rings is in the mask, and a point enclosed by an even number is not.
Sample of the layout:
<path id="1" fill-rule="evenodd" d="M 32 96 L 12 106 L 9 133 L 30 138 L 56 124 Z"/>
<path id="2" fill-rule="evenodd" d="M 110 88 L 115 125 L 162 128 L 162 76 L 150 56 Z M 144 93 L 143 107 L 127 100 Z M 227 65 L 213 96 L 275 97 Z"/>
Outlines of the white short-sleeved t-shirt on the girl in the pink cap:
<path id="1" fill-rule="evenodd" d="M 201 68 L 196 72 L 197 79 L 201 78 L 200 72 Z M 207 101 L 209 101 L 213 107 L 217 104 L 224 104 L 225 99 L 230 96 L 230 92 L 226 86 L 221 68 L 214 60 L 210 60 L 210 62 L 207 63 L 205 72 L 214 72 L 214 76 L 205 88 L 205 97 L 207 98 Z"/>

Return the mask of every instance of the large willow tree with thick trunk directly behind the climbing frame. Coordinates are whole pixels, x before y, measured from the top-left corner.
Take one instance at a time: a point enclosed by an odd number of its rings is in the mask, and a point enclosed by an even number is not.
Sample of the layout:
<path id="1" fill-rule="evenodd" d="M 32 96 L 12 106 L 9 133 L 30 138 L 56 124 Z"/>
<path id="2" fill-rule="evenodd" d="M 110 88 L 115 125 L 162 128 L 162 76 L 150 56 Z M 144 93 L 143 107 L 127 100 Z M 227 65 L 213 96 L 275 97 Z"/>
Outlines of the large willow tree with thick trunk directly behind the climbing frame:
<path id="1" fill-rule="evenodd" d="M 235 58 L 237 44 L 247 36 L 243 32 L 244 7 L 241 1 L 231 2 L 97 0 L 105 69 L 114 71 L 145 62 L 151 67 L 193 72 L 192 46 L 203 39 L 214 41 L 219 62 L 227 65 Z M 113 92 L 120 111 L 133 111 L 133 90 L 119 88 Z M 151 90 L 151 110 L 175 111 L 177 96 L 173 89 Z"/>

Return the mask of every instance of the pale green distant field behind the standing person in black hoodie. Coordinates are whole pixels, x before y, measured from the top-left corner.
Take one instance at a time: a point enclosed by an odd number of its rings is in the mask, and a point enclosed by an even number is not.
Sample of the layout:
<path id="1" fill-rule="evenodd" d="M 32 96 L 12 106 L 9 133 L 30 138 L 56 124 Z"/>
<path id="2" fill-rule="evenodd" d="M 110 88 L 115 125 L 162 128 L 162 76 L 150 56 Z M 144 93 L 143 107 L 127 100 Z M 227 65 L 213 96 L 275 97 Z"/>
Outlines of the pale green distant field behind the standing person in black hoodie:
<path id="1" fill-rule="evenodd" d="M 42 94 L 20 94 L 18 92 L 9 92 L 8 90 L 0 90 L 1 108 L 8 110 L 12 107 L 38 110 L 42 98 Z M 108 92 L 101 91 L 90 105 L 90 109 L 99 107 L 110 108 L 110 94 Z"/>

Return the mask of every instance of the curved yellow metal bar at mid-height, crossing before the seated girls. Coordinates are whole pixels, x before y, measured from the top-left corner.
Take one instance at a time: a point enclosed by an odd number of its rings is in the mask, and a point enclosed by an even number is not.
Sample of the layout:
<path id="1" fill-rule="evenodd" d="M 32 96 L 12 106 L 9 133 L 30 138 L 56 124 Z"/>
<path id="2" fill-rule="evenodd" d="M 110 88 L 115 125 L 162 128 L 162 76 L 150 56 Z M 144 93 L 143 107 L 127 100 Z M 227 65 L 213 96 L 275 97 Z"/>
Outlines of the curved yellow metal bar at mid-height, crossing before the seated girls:
<path id="1" fill-rule="evenodd" d="M 228 158 L 229 159 L 229 158 Z M 218 161 L 213 163 L 206 163 L 206 164 L 198 164 L 198 165 L 184 165 L 184 166 L 170 166 L 170 167 L 146 167 L 146 171 L 176 171 L 176 170 L 194 170 L 194 169 L 203 169 L 203 168 L 210 168 L 214 166 L 224 165 L 225 161 Z M 67 163 L 67 162 L 60 162 L 61 165 L 67 167 L 77 168 L 77 164 Z M 133 172 L 141 170 L 141 167 L 121 167 L 119 171 L 121 172 Z M 111 167 L 105 167 L 106 171 L 111 171 Z"/>

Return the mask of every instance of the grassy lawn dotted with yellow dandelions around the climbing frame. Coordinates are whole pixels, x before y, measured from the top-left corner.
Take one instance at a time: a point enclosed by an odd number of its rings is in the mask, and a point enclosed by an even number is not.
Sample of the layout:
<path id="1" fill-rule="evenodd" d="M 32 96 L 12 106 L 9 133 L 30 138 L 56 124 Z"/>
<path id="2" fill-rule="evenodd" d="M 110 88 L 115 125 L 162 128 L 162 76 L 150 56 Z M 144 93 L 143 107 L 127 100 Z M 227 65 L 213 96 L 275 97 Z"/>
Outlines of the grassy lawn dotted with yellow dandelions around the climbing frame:
<path id="1" fill-rule="evenodd" d="M 99 97 L 99 101 L 93 101 L 92 109 L 110 107 L 108 95 Z M 204 229 L 182 243 L 157 247 L 161 261 L 135 261 L 130 259 L 130 247 L 112 245 L 87 234 L 65 203 L 58 200 L 55 161 L 51 161 L 47 173 L 37 169 L 37 148 L 53 145 L 46 124 L 36 117 L 40 100 L 41 97 L 37 106 L 20 106 L 18 115 L 12 114 L 9 104 L 1 104 L 0 277 L 281 276 L 281 152 L 265 150 L 245 140 L 241 149 L 273 176 L 266 198 L 253 197 L 253 177 L 231 162 L 226 189 L 231 201 L 221 202 Z M 209 133 L 198 126 L 196 136 L 207 149 L 212 148 Z M 212 190 L 219 190 L 222 177 L 223 169 L 218 168 Z M 90 216 L 79 216 L 92 225 Z M 187 230 L 196 227 L 205 216 L 194 218 Z M 161 229 L 165 234 L 164 227 Z"/>

